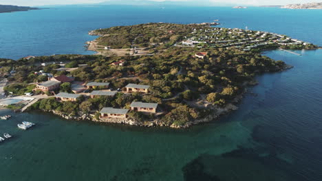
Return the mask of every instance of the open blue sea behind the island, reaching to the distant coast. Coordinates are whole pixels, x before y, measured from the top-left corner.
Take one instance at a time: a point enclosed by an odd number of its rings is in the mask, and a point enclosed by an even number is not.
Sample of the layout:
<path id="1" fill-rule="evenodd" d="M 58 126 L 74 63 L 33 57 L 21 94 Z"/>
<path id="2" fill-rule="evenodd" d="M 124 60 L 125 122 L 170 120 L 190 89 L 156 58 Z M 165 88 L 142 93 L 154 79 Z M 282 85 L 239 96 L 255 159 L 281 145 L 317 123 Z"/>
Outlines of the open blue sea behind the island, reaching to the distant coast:
<path id="1" fill-rule="evenodd" d="M 322 10 L 277 8 L 182 8 L 81 6 L 0 14 L 0 57 L 92 53 L 84 43 L 92 29 L 149 22 L 200 23 L 219 19 L 224 27 L 287 34 L 322 45 Z"/>

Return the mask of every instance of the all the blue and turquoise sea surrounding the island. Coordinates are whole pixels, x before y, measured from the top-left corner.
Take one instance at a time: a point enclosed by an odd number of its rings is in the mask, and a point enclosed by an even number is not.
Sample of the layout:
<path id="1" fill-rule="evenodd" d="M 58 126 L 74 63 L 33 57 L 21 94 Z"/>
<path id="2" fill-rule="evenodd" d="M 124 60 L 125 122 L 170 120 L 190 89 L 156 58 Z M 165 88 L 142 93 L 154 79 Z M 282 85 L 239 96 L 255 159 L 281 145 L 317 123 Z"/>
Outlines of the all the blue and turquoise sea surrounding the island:
<path id="1" fill-rule="evenodd" d="M 0 57 L 19 58 L 30 51 L 32 55 L 89 53 L 82 47 L 93 38 L 86 35 L 88 30 L 151 21 L 220 19 L 225 27 L 247 25 L 322 45 L 318 36 L 322 28 L 316 23 L 316 16 L 322 15 L 319 10 L 61 7 L 41 11 L 0 14 Z M 8 17 L 16 23 L 10 24 Z M 28 32 L 18 28 L 23 21 L 34 22 L 24 24 Z M 60 23 L 64 21 L 68 23 Z M 10 25 L 3 28 L 3 22 Z M 42 31 L 49 27 L 60 29 L 60 34 Z M 28 45 L 33 38 L 39 39 Z M 12 39 L 14 43 L 7 42 Z M 0 134 L 10 132 L 14 138 L 0 143 L 0 180 L 321 180 L 322 50 L 297 52 L 303 56 L 264 52 L 294 68 L 257 76 L 259 85 L 249 88 L 239 110 L 188 130 L 66 121 L 41 112 L 1 110 L 1 115 L 14 117 L 0 121 Z M 21 121 L 37 125 L 23 131 L 17 128 Z"/>

